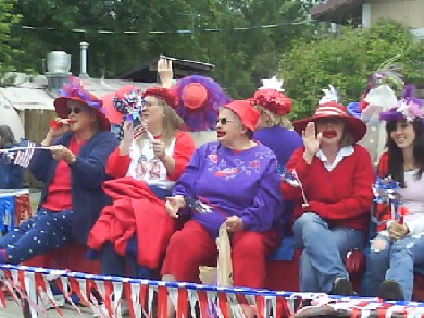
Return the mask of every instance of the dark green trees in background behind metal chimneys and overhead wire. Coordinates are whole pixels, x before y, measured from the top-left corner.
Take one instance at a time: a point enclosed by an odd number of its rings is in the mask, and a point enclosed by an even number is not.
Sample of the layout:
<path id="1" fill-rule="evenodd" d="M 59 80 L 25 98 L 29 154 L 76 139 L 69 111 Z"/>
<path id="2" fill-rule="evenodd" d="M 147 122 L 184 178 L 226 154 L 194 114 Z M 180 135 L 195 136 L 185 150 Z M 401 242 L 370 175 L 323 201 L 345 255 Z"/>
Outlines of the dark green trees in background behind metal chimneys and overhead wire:
<path id="1" fill-rule="evenodd" d="M 308 8 L 301 0 L 17 0 L 15 12 L 23 15 L 22 24 L 42 29 L 15 29 L 27 52 L 16 65 L 41 72 L 41 59 L 48 51 L 64 50 L 72 54 L 72 71 L 78 74 L 79 42 L 85 40 L 90 44 L 91 76 L 104 73 L 113 78 L 163 53 L 215 64 L 211 76 L 232 96 L 248 97 L 261 78 L 275 75 L 294 39 L 313 35 L 314 24 L 290 25 L 307 20 Z M 252 28 L 282 23 L 287 25 Z M 70 32 L 72 28 L 88 32 Z M 224 30 L 204 32 L 207 28 Z M 101 34 L 99 29 L 116 33 Z M 173 33 L 177 29 L 192 33 Z"/>

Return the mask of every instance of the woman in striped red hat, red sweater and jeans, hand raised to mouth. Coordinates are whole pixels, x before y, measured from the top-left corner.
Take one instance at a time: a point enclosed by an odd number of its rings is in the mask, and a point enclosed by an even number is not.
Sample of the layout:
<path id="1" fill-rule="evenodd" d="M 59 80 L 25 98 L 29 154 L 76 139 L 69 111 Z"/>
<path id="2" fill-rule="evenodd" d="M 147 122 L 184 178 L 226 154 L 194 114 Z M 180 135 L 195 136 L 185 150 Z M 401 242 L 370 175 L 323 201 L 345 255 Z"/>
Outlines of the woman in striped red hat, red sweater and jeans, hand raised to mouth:
<path id="1" fill-rule="evenodd" d="M 294 127 L 304 143 L 287 163 L 298 186 L 283 182 L 282 188 L 285 198 L 296 200 L 295 242 L 303 248 L 300 291 L 351 295 L 344 259 L 364 243 L 373 199 L 370 155 L 356 144 L 366 126 L 326 100 Z"/>

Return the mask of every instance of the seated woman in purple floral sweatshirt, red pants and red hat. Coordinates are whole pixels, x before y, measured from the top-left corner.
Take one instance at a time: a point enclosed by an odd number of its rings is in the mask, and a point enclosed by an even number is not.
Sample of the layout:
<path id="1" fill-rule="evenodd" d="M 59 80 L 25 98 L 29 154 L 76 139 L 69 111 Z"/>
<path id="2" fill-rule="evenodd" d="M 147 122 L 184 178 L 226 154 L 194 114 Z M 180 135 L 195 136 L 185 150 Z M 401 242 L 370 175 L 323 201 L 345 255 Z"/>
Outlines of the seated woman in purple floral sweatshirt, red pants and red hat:
<path id="1" fill-rule="evenodd" d="M 262 288 L 265 258 L 282 238 L 283 198 L 277 160 L 252 139 L 259 113 L 245 100 L 219 110 L 217 142 L 197 149 L 166 201 L 172 217 L 187 198 L 208 204 L 209 213 L 191 219 L 170 241 L 162 268 L 163 280 L 199 282 L 199 266 L 215 266 L 215 238 L 225 222 L 232 241 L 234 284 Z"/>

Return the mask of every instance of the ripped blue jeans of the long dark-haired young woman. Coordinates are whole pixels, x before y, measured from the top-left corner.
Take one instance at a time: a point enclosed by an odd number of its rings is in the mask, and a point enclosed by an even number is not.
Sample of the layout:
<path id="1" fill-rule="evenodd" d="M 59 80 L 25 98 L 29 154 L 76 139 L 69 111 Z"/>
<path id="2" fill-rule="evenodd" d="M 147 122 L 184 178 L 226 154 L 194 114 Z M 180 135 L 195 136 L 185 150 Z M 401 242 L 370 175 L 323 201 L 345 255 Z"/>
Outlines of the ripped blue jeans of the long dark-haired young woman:
<path id="1" fill-rule="evenodd" d="M 424 235 L 406 236 L 396 241 L 378 235 L 374 240 L 384 240 L 386 245 L 379 252 L 371 247 L 366 258 L 364 295 L 377 296 L 379 284 L 384 280 L 395 280 L 402 286 L 404 299 L 411 301 L 414 264 L 424 262 Z"/>

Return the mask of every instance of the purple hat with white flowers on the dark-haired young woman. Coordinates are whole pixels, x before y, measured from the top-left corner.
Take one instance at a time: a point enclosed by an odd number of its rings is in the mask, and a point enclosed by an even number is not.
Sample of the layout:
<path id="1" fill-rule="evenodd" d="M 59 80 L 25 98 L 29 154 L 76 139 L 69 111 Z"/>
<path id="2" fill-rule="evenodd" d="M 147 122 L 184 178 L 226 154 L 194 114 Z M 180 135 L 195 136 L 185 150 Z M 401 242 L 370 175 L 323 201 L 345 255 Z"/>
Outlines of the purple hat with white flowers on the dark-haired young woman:
<path id="1" fill-rule="evenodd" d="M 402 98 L 388 111 L 379 114 L 382 121 L 400 121 L 413 122 L 415 119 L 424 119 L 424 100 L 413 96 L 414 85 L 404 87 Z"/>

